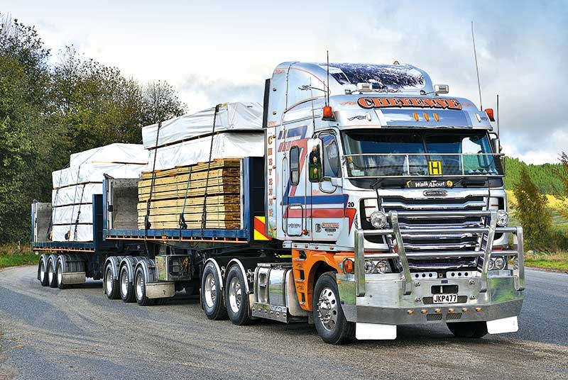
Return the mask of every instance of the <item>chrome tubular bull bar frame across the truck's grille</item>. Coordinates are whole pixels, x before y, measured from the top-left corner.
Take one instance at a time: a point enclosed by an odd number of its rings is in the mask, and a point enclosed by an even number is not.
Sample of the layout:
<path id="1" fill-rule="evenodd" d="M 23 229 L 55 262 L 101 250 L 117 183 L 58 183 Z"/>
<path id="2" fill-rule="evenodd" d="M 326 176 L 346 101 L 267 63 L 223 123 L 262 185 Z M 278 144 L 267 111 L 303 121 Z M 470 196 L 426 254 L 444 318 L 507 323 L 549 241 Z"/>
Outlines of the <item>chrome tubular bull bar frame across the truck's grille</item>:
<path id="1" fill-rule="evenodd" d="M 398 217 L 420 216 L 432 218 L 444 217 L 464 217 L 464 216 L 486 216 L 486 225 L 479 228 L 404 228 L 400 229 Z M 356 296 L 365 296 L 365 259 L 398 259 L 402 266 L 403 274 L 403 294 L 409 295 L 412 293 L 412 276 L 410 275 L 410 265 L 408 259 L 412 258 L 450 258 L 450 257 L 483 257 L 484 263 L 481 268 L 481 279 L 479 281 L 479 291 L 484 293 L 487 291 L 487 276 L 489 272 L 489 262 L 492 255 L 498 256 L 517 256 L 518 267 L 513 269 L 513 276 L 515 280 L 515 289 L 523 291 L 525 289 L 525 256 L 523 249 L 523 228 L 519 227 L 497 227 L 497 212 L 496 211 L 390 211 L 388 218 L 391 221 L 390 229 L 385 230 L 355 230 L 355 292 Z M 482 242 L 486 239 L 485 247 L 483 250 L 470 250 L 470 251 L 431 251 L 431 252 L 406 252 L 403 238 L 409 235 L 424 235 L 424 234 L 445 234 L 445 233 L 476 233 L 483 234 Z M 513 233 L 514 235 L 514 249 L 513 250 L 493 250 L 493 239 L 495 233 Z M 395 245 L 395 252 L 381 252 L 365 255 L 364 250 L 364 237 L 365 235 L 391 235 Z M 516 272 L 516 273 L 515 273 Z"/>

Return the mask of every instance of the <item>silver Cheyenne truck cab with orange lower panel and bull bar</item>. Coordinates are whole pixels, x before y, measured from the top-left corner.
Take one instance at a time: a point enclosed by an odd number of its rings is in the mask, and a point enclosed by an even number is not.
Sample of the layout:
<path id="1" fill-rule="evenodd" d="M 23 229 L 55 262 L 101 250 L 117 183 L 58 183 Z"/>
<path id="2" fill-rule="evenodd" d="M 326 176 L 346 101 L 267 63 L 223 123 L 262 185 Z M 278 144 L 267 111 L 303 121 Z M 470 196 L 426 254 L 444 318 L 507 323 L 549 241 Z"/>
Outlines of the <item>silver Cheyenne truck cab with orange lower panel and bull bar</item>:
<path id="1" fill-rule="evenodd" d="M 447 92 L 411 65 L 285 62 L 267 80 L 266 235 L 328 342 L 518 329 L 523 233 L 492 111 Z"/>

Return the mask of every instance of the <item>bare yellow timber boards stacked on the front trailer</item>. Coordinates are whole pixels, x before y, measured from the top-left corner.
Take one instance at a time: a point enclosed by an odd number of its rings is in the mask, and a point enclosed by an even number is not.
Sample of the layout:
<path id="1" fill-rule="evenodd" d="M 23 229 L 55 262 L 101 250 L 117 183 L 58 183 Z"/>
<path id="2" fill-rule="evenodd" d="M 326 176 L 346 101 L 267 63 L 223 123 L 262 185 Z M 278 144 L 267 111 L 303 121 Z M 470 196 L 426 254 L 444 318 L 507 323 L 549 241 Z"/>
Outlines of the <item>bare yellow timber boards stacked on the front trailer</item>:
<path id="1" fill-rule="evenodd" d="M 142 173 L 138 182 L 138 228 L 144 228 L 150 196 L 148 220 L 151 228 L 180 228 L 184 222 L 186 228 L 201 228 L 206 198 L 207 223 L 204 228 L 240 228 L 239 160 L 215 160 L 210 165 L 158 170 L 154 176 L 153 189 L 152 172 Z"/>

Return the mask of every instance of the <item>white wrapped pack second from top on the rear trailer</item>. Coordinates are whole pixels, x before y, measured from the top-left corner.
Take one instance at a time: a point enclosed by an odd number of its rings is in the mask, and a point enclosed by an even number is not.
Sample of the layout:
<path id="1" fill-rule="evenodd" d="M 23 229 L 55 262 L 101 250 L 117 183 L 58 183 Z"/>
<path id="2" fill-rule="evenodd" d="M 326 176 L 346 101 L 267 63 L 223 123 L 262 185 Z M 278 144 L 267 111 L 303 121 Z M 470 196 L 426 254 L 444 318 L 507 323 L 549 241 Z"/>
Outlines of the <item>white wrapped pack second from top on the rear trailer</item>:
<path id="1" fill-rule="evenodd" d="M 141 145 L 138 145 L 141 146 Z M 144 150 L 148 160 L 148 151 Z M 110 157 L 109 157 L 110 158 Z M 114 160 L 114 158 L 112 158 Z M 53 189 L 87 182 L 102 182 L 104 175 L 113 178 L 138 178 L 148 170 L 146 164 L 85 163 L 78 167 L 67 167 L 51 173 Z"/>

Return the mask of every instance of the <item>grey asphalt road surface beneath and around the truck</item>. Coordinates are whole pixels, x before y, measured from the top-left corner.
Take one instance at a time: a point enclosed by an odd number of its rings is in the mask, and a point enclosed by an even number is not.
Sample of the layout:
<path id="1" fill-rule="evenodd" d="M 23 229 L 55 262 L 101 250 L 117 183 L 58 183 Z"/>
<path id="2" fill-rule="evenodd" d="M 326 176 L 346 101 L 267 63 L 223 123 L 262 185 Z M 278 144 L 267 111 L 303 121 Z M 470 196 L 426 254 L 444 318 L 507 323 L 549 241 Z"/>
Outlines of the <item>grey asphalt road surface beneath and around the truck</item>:
<path id="1" fill-rule="evenodd" d="M 0 380 L 568 379 L 566 274 L 528 271 L 515 334 L 409 326 L 395 341 L 332 346 L 305 324 L 207 320 L 185 294 L 140 307 L 109 301 L 100 281 L 43 288 L 35 270 L 0 272 Z"/>

